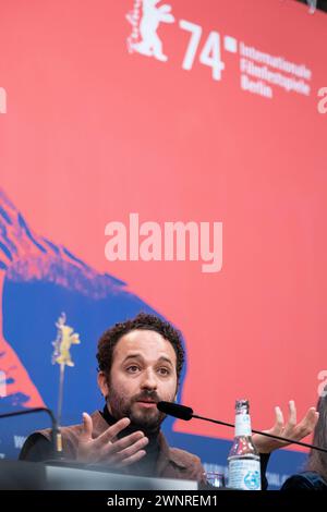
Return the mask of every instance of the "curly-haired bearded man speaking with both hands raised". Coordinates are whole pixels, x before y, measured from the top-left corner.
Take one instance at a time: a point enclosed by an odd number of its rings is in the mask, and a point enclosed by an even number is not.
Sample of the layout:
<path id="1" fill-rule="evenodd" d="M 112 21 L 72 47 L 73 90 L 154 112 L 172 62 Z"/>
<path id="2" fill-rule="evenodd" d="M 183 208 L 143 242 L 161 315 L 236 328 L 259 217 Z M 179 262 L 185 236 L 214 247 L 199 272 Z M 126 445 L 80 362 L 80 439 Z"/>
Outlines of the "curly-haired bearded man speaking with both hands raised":
<path id="1" fill-rule="evenodd" d="M 160 318 L 140 314 L 116 324 L 98 343 L 98 386 L 106 400 L 102 412 L 83 414 L 83 425 L 62 427 L 63 453 L 69 460 L 106 464 L 123 473 L 204 483 L 198 456 L 170 448 L 160 430 L 165 415 L 157 402 L 173 402 L 184 363 L 181 333 Z M 312 407 L 296 425 L 295 409 L 284 427 L 280 410 L 271 434 L 301 439 L 317 419 Z M 254 436 L 262 453 L 281 443 Z M 51 458 L 50 430 L 29 436 L 20 459 L 41 461 Z M 263 473 L 267 456 L 262 458 Z"/>

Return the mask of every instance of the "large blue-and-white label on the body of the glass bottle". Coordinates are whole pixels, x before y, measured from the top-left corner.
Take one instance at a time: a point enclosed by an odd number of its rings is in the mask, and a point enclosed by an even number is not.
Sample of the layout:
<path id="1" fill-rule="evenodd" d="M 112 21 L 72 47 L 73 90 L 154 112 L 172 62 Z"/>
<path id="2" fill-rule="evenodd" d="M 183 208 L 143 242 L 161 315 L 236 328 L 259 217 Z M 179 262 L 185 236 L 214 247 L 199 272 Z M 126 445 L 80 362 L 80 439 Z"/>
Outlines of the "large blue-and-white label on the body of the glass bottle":
<path id="1" fill-rule="evenodd" d="M 261 490 L 261 463 L 255 460 L 235 459 L 229 462 L 228 487 L 243 490 Z"/>

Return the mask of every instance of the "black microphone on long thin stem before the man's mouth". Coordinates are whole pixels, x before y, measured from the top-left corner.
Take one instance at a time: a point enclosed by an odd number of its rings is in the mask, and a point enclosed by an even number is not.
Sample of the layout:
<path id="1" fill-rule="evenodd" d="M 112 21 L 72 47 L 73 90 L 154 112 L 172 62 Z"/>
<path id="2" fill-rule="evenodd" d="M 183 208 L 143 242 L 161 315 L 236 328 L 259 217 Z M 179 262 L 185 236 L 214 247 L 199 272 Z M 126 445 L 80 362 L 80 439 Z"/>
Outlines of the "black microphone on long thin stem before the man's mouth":
<path id="1" fill-rule="evenodd" d="M 197 418 L 197 419 L 203 419 L 204 422 L 210 422 L 210 423 L 216 423 L 217 425 L 223 425 L 226 427 L 232 427 L 232 428 L 235 427 L 233 423 L 226 423 L 226 422 L 220 422 L 219 419 L 211 419 L 211 418 L 206 418 L 203 416 L 197 416 L 196 414 L 193 414 L 193 409 L 186 407 L 186 405 L 181 405 L 179 403 L 162 401 L 162 402 L 157 403 L 157 407 L 161 413 L 165 413 L 168 416 L 173 416 L 179 419 L 184 419 L 186 422 L 189 422 L 192 418 Z M 294 441 L 293 439 L 288 439 L 287 437 L 274 436 L 272 434 L 263 432 L 262 430 L 255 430 L 254 428 L 252 429 L 252 431 L 254 434 L 261 434 L 262 436 L 265 436 L 265 437 L 270 437 L 271 439 L 278 439 L 279 441 L 286 441 L 292 444 L 298 444 L 300 447 L 311 448 L 312 450 L 318 450 L 324 453 L 327 453 L 327 450 L 325 448 L 316 447 L 314 444 L 308 444 L 307 442 Z"/>

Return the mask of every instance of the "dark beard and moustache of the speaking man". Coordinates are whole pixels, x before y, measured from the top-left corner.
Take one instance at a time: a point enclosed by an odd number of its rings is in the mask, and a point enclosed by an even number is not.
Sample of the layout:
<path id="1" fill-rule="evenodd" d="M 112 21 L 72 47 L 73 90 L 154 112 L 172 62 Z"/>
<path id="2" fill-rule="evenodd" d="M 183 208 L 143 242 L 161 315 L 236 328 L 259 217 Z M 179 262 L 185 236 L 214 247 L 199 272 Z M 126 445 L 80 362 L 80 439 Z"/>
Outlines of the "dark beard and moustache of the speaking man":
<path id="1" fill-rule="evenodd" d="M 160 402 L 160 398 L 155 391 L 143 391 L 142 393 L 126 399 L 118 393 L 114 387 L 110 386 L 110 393 L 107 397 L 107 406 L 109 412 L 116 419 L 129 417 L 132 427 L 142 429 L 145 432 L 154 434 L 160 429 L 160 425 L 166 418 L 166 414 L 161 413 L 157 407 L 141 409 L 138 401 L 153 400 Z"/>

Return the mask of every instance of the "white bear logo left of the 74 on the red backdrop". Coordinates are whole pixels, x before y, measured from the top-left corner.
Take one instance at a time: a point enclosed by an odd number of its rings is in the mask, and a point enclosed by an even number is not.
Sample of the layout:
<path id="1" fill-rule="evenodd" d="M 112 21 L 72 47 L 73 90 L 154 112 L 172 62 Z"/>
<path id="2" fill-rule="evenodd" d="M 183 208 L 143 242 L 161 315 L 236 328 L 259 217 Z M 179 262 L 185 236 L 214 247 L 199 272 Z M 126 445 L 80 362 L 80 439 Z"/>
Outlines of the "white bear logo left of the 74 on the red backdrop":
<path id="1" fill-rule="evenodd" d="M 164 53 L 157 29 L 162 22 L 173 23 L 174 17 L 170 13 L 171 5 L 157 7 L 160 1 L 135 0 L 133 11 L 126 14 L 128 21 L 133 26 L 132 34 L 128 38 L 128 48 L 131 53 L 136 51 L 166 62 L 168 57 Z"/>

